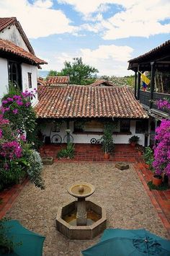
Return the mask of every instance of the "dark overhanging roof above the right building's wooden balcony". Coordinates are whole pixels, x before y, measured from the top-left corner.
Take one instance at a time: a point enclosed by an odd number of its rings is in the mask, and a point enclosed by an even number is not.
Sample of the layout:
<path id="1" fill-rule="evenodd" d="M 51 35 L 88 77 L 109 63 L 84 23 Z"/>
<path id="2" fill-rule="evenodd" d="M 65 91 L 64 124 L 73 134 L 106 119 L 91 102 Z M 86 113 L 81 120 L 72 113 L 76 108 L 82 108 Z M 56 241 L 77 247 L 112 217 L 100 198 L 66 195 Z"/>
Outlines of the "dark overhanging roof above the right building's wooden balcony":
<path id="1" fill-rule="evenodd" d="M 136 61 L 143 61 L 146 58 L 152 58 L 156 54 L 158 54 L 160 52 L 162 53 L 162 50 L 166 50 L 166 52 L 169 53 L 169 51 L 170 51 L 170 40 L 167 40 L 165 43 L 162 43 L 158 47 L 153 48 L 152 50 L 148 51 L 148 53 L 144 53 L 143 55 L 140 55 L 137 58 L 133 58 L 128 62 L 133 63 L 133 62 L 136 62 Z"/>

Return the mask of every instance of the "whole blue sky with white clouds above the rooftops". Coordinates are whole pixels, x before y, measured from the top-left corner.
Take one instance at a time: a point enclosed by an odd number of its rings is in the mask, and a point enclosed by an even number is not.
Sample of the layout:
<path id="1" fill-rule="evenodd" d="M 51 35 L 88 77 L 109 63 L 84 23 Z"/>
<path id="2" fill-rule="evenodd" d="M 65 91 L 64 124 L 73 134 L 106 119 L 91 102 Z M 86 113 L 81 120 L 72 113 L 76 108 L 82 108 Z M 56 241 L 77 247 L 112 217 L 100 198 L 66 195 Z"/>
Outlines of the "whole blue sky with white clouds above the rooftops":
<path id="1" fill-rule="evenodd" d="M 82 57 L 99 76 L 126 76 L 128 61 L 170 39 L 170 0 L 0 0 L 17 17 L 42 70 Z"/>

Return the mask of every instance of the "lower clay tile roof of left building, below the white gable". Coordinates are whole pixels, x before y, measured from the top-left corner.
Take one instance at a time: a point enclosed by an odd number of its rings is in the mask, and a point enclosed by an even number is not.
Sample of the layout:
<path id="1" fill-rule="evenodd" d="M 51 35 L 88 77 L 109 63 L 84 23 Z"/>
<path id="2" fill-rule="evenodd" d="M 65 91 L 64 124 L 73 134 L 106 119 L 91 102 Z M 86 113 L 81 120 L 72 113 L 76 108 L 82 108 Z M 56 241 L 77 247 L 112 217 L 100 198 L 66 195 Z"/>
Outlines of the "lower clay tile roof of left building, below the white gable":
<path id="1" fill-rule="evenodd" d="M 25 60 L 34 63 L 34 64 L 47 64 L 46 61 L 42 61 L 40 58 L 37 58 L 34 54 L 27 52 L 23 48 L 14 45 L 14 43 L 9 40 L 0 39 L 0 53 L 11 53 L 14 56 L 19 56 Z"/>

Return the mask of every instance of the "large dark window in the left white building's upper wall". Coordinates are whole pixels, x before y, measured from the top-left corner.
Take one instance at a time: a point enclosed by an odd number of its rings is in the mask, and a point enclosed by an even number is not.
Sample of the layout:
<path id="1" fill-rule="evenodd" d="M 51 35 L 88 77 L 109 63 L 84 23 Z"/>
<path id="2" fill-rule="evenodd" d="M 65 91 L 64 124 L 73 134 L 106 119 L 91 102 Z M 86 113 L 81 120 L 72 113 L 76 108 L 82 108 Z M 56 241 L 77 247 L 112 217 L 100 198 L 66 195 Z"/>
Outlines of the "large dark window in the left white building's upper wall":
<path id="1" fill-rule="evenodd" d="M 9 81 L 11 81 L 12 84 L 14 84 L 14 86 L 17 86 L 20 89 L 22 89 L 20 64 L 14 61 L 9 61 L 8 71 L 9 71 Z"/>

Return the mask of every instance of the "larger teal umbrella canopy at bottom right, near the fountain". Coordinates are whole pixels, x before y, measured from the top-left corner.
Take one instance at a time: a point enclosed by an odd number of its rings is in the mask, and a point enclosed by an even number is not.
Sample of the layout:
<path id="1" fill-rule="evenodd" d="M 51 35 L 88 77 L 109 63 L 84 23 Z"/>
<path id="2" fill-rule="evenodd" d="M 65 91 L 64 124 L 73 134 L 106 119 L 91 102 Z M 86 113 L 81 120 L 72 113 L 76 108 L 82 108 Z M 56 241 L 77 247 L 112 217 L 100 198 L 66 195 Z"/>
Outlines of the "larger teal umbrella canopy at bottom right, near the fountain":
<path id="1" fill-rule="evenodd" d="M 101 241 L 84 256 L 169 256 L 170 241 L 145 229 L 106 229 Z"/>

